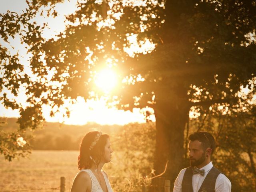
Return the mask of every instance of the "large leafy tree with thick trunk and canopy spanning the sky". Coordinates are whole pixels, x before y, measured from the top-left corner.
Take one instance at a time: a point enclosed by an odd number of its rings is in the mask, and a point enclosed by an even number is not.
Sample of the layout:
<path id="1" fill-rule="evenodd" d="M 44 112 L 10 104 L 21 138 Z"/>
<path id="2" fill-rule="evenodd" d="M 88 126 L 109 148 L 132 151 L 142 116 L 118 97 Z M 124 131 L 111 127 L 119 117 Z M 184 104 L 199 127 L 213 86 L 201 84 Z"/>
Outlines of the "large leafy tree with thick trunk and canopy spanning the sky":
<path id="1" fill-rule="evenodd" d="M 66 18 L 66 30 L 50 40 L 41 35 L 46 25 L 30 22 L 45 1 L 28 4 L 22 15 L 1 15 L 2 38 L 21 35 L 38 77 L 32 80 L 24 74 L 17 55 L 1 46 L 0 88 L 17 95 L 19 86 L 25 86 L 28 96 L 26 108 L 6 95 L 2 98 L 6 107 L 20 110 L 20 129 L 36 128 L 44 120 L 43 104 L 54 114 L 65 99 L 101 96 L 94 75 L 112 65 L 120 80 L 127 81 L 111 99 L 119 100 L 121 108 L 154 108 L 155 169 L 162 172 L 169 161 L 165 176 L 172 181 L 183 166 L 190 108 L 235 105 L 240 85 L 255 76 L 254 1 L 78 1 L 78 10 Z M 155 43 L 155 50 L 135 50 L 132 36 L 141 47 Z"/>

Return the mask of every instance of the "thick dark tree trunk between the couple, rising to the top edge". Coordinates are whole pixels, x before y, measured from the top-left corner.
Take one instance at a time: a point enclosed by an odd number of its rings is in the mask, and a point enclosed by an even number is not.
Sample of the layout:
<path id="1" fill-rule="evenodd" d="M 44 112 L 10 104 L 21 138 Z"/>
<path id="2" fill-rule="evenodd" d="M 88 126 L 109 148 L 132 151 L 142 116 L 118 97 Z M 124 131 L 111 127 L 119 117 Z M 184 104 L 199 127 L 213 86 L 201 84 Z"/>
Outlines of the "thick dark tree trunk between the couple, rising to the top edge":
<path id="1" fill-rule="evenodd" d="M 188 101 L 187 91 L 190 86 L 190 76 L 194 75 L 190 71 L 190 66 L 185 65 L 187 52 L 191 51 L 193 44 L 190 42 L 190 32 L 188 26 L 181 26 L 190 16 L 194 15 L 194 6 L 197 0 L 170 0 L 165 4 L 165 23 L 159 36 L 162 38 L 163 46 L 158 54 L 170 54 L 163 70 L 170 70 L 162 74 L 162 84 L 156 88 L 156 105 L 154 107 L 156 116 L 156 154 L 154 169 L 156 175 L 164 171 L 166 162 L 168 166 L 163 177 L 171 181 L 171 188 L 175 178 L 184 166 L 184 130 L 188 122 L 190 102 Z M 186 17 L 185 17 L 186 16 Z M 170 48 L 173 48 L 170 50 Z M 165 54 L 164 54 L 165 53 Z M 177 53 L 177 54 L 176 54 Z M 163 65 L 162 65 L 163 66 Z M 194 77 L 193 77 L 194 78 Z M 157 184 L 156 180 L 153 184 Z"/>

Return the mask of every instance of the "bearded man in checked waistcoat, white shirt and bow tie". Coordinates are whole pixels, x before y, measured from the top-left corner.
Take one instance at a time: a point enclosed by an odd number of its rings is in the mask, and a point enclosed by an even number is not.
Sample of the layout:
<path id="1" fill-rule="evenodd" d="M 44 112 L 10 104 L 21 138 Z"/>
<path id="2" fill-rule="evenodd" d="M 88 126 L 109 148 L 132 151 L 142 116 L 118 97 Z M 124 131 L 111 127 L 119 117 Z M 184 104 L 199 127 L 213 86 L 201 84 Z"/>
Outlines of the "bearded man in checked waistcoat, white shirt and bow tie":
<path id="1" fill-rule="evenodd" d="M 231 192 L 230 180 L 211 162 L 214 137 L 208 132 L 196 132 L 188 139 L 190 167 L 180 171 L 173 192 Z"/>

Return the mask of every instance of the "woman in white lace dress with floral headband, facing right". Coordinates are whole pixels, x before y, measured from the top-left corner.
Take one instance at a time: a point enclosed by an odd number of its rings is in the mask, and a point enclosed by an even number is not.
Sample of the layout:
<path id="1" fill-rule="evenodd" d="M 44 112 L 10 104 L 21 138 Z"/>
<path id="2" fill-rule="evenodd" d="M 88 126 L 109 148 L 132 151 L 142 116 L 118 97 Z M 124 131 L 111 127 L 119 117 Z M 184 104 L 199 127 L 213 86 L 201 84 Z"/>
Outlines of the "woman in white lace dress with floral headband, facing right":
<path id="1" fill-rule="evenodd" d="M 113 192 L 108 175 L 102 171 L 105 163 L 111 161 L 109 136 L 93 131 L 86 134 L 80 146 L 78 169 L 71 192 Z"/>

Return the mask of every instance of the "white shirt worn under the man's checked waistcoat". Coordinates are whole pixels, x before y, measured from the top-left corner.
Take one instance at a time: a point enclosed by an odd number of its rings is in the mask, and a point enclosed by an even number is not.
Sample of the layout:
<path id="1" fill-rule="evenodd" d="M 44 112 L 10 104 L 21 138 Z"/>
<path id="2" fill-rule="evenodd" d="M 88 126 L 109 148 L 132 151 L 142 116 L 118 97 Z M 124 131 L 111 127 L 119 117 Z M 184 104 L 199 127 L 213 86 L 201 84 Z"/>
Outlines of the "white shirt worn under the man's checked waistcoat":
<path id="1" fill-rule="evenodd" d="M 205 172 L 204 176 L 200 174 L 193 174 L 192 186 L 193 186 L 194 192 L 198 192 L 202 183 L 204 182 L 204 179 L 206 178 L 207 174 L 209 173 L 212 167 L 213 167 L 212 162 L 210 162 L 209 164 L 201 168 L 201 170 L 204 169 L 204 172 Z M 186 171 L 186 168 L 180 171 L 178 177 L 174 182 L 173 192 L 182 192 L 182 180 L 183 180 L 185 171 Z M 222 173 L 219 174 L 215 182 L 214 190 L 215 192 L 231 192 L 230 180 L 224 174 Z"/>

